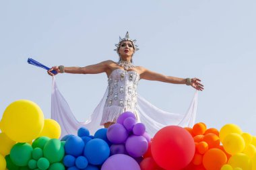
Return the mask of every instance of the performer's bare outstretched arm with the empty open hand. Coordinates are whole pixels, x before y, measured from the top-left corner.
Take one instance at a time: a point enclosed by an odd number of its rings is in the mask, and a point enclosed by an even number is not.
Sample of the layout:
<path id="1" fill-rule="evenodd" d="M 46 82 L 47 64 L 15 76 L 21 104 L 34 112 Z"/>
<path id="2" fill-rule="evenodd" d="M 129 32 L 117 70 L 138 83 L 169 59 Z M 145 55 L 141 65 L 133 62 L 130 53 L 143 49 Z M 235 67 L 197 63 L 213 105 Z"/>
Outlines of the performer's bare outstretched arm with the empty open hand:
<path id="1" fill-rule="evenodd" d="M 160 73 L 150 71 L 143 67 L 139 67 L 139 70 L 141 72 L 141 74 L 140 74 L 141 79 L 146 79 L 146 80 L 151 80 L 151 81 L 162 81 L 162 82 L 173 83 L 173 84 L 186 84 L 187 83 L 187 79 L 162 75 Z M 197 78 L 191 79 L 191 86 L 199 91 L 203 91 L 203 85 L 200 83 L 200 81 L 201 80 L 199 80 Z"/>

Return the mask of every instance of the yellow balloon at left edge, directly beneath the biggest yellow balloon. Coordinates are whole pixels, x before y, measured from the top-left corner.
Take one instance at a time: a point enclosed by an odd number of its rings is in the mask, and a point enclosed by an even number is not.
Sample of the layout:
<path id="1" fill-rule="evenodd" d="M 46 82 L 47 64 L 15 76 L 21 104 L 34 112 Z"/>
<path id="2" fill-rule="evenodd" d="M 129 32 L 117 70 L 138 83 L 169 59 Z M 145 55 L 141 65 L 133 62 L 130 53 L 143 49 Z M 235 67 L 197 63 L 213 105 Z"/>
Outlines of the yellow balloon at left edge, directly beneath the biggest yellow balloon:
<path id="1" fill-rule="evenodd" d="M 16 142 L 8 138 L 6 134 L 0 133 L 0 154 L 3 156 L 9 155 L 11 148 L 15 143 Z"/>

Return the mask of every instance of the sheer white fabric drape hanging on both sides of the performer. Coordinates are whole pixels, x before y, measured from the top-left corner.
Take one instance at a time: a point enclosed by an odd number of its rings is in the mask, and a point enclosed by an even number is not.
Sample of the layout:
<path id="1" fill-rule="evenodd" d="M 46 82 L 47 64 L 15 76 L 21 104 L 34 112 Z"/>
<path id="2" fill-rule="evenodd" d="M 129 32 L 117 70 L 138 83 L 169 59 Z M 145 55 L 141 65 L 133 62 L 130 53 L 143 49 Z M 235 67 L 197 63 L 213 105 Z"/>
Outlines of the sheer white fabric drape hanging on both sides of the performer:
<path id="1" fill-rule="evenodd" d="M 53 77 L 53 89 L 51 96 L 51 118 L 56 120 L 61 126 L 61 137 L 66 134 L 77 134 L 77 130 L 80 127 L 85 127 L 90 130 L 91 134 L 94 134 L 96 130 L 103 128 L 100 126 L 100 120 L 102 118 L 102 112 L 104 108 L 104 103 L 106 101 L 108 93 L 108 88 L 104 94 L 104 97 L 98 103 L 96 109 L 90 116 L 90 119 L 86 122 L 79 122 L 76 120 L 69 104 L 61 95 L 57 84 L 55 82 L 55 77 Z M 165 112 L 156 108 L 146 99 L 143 99 L 140 95 L 137 95 L 137 109 L 140 121 L 145 124 L 146 131 L 150 136 L 154 136 L 158 130 L 168 125 L 178 125 L 183 127 L 191 127 L 195 122 L 195 115 L 197 111 L 197 91 L 191 101 L 191 105 L 187 113 L 185 114 L 174 114 L 170 112 Z"/>

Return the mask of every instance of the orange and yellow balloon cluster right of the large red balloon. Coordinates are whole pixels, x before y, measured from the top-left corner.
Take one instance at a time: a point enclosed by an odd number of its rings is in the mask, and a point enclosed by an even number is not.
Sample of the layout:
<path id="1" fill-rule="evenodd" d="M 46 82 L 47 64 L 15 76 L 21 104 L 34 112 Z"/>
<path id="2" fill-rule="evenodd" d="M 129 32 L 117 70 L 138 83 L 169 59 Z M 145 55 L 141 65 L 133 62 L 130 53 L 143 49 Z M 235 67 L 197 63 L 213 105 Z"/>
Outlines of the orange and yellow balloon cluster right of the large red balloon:
<path id="1" fill-rule="evenodd" d="M 235 124 L 220 129 L 197 123 L 185 128 L 195 142 L 195 155 L 185 169 L 256 169 L 256 137 L 243 132 Z"/>

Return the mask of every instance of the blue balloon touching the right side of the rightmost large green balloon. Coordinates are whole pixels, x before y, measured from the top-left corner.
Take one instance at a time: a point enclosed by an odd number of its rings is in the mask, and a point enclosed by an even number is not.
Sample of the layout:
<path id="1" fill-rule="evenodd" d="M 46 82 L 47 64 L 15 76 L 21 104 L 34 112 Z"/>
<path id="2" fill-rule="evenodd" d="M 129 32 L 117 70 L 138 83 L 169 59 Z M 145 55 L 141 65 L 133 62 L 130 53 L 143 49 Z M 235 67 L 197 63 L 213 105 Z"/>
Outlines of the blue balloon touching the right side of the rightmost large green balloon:
<path id="1" fill-rule="evenodd" d="M 65 153 L 79 157 L 84 151 L 84 141 L 79 136 L 70 136 L 64 145 Z"/>

